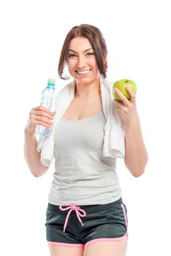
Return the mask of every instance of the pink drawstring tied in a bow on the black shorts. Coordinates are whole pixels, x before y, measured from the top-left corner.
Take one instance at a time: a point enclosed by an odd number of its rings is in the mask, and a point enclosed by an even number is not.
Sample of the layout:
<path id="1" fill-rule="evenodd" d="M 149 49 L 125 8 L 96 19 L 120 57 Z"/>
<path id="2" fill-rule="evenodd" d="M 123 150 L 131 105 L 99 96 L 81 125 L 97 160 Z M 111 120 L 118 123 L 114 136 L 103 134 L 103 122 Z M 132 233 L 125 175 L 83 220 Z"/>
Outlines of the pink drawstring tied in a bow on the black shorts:
<path id="1" fill-rule="evenodd" d="M 62 206 L 68 206 L 66 208 L 62 208 Z M 68 219 L 69 219 L 69 215 L 71 214 L 72 211 L 75 211 L 76 212 L 76 215 L 77 215 L 77 219 L 79 220 L 79 222 L 82 224 L 83 226 L 83 222 L 81 221 L 80 217 L 85 217 L 86 216 L 86 211 L 84 211 L 83 209 L 80 208 L 80 206 L 75 206 L 75 204 L 73 203 L 61 203 L 60 206 L 59 206 L 60 210 L 61 211 L 67 211 L 69 210 L 67 216 L 66 216 L 66 219 L 65 219 L 65 223 L 64 223 L 64 232 L 65 232 L 65 229 L 66 229 L 66 225 L 67 225 L 67 222 L 68 222 Z M 81 214 L 81 212 L 83 214 Z"/>

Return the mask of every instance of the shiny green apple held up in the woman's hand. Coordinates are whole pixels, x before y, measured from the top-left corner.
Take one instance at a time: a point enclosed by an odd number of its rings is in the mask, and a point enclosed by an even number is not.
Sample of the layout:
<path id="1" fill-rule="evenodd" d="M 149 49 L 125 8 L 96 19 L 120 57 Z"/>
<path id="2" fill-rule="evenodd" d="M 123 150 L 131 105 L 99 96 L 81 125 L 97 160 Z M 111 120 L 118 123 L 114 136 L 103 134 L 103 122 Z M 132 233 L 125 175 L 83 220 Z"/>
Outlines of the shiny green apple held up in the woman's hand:
<path id="1" fill-rule="evenodd" d="M 126 86 L 131 87 L 132 91 L 134 91 L 134 94 L 136 94 L 136 92 L 137 92 L 137 86 L 134 83 L 134 81 L 129 80 L 129 79 L 122 79 L 122 80 L 116 81 L 114 83 L 114 85 L 113 85 L 113 96 L 119 102 L 121 102 L 122 100 L 121 100 L 120 97 L 118 97 L 118 94 L 115 94 L 115 90 L 114 89 L 118 88 L 127 99 L 130 99 L 130 95 L 129 95 L 128 91 L 126 91 Z"/>

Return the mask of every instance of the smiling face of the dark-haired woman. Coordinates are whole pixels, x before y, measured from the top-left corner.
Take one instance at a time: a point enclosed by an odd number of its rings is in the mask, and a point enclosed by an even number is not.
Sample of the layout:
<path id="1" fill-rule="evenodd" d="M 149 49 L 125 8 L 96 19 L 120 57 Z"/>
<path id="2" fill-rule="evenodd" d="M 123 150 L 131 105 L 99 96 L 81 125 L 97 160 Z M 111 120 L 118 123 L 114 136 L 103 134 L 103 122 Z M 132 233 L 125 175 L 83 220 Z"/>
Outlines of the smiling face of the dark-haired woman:
<path id="1" fill-rule="evenodd" d="M 86 37 L 75 37 L 69 45 L 67 66 L 77 83 L 92 83 L 99 79 L 94 49 Z"/>

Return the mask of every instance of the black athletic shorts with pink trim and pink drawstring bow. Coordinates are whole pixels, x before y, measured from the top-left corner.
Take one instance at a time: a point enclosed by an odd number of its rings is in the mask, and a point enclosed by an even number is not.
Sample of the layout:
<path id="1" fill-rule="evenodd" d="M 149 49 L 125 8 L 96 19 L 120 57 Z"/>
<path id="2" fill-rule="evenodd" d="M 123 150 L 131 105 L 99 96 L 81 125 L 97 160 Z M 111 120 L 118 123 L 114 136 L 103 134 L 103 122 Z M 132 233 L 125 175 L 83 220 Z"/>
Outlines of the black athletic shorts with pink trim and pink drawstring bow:
<path id="1" fill-rule="evenodd" d="M 121 198 L 104 205 L 48 203 L 45 226 L 47 242 L 59 246 L 86 246 L 128 238 L 127 209 Z"/>

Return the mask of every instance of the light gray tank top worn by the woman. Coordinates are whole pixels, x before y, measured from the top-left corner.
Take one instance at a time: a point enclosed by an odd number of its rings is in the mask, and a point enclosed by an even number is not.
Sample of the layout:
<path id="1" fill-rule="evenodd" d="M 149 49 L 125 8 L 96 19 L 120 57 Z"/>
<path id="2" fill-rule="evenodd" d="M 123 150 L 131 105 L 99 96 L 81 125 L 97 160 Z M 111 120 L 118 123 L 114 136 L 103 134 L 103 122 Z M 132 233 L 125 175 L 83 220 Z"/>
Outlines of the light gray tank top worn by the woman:
<path id="1" fill-rule="evenodd" d="M 121 197 L 116 159 L 102 156 L 105 123 L 103 112 L 79 121 L 61 118 L 54 135 L 56 171 L 49 203 L 83 206 Z"/>

